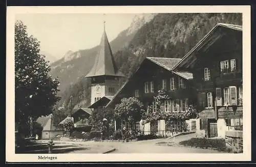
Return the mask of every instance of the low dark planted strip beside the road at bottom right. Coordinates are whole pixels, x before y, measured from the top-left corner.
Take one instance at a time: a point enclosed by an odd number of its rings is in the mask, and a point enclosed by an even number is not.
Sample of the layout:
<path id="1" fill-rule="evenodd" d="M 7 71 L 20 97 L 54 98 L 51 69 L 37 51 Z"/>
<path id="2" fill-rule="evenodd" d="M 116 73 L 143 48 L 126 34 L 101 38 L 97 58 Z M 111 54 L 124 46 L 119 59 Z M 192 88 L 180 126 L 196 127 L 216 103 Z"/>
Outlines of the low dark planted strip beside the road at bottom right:
<path id="1" fill-rule="evenodd" d="M 190 140 L 182 141 L 179 144 L 199 148 L 217 148 L 220 151 L 223 151 L 226 148 L 225 140 L 217 138 L 191 138 Z"/>

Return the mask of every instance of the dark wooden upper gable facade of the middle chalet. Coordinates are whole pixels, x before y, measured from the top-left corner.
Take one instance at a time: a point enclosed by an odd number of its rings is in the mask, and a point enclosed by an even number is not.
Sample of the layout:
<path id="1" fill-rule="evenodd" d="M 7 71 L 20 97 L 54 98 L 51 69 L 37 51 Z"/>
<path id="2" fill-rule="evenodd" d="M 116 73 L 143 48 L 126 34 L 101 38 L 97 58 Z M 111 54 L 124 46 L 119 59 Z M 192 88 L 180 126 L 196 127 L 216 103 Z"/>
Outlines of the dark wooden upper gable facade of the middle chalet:
<path id="1" fill-rule="evenodd" d="M 171 88 L 171 78 L 174 78 L 173 83 L 175 87 L 173 89 Z M 182 79 L 184 87 L 181 88 L 182 84 L 180 84 L 179 87 L 178 79 Z M 145 90 L 146 82 L 148 83 L 148 91 Z M 162 89 L 165 90 L 171 100 L 187 99 L 187 103 L 192 103 L 196 101 L 196 91 L 193 89 L 192 85 L 192 79 L 186 79 L 145 59 L 137 72 L 131 77 L 129 82 L 125 84 L 117 96 L 114 97 L 114 102 L 109 104 L 109 106 L 113 108 L 114 105 L 124 97 L 137 97 L 144 104 L 145 109 L 147 109 L 148 105 L 152 105 L 154 96 Z"/>

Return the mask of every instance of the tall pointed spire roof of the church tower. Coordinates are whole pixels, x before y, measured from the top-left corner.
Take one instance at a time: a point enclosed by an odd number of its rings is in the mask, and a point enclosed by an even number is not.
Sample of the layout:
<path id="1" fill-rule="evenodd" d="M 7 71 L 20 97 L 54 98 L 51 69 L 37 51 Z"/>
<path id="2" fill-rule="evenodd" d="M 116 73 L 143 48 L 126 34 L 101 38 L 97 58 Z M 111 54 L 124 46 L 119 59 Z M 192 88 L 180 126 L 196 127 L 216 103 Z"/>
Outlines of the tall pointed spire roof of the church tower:
<path id="1" fill-rule="evenodd" d="M 103 75 L 124 77 L 122 73 L 117 71 L 109 40 L 106 36 L 105 25 L 100 42 L 100 48 L 96 55 L 94 65 L 86 77 Z"/>

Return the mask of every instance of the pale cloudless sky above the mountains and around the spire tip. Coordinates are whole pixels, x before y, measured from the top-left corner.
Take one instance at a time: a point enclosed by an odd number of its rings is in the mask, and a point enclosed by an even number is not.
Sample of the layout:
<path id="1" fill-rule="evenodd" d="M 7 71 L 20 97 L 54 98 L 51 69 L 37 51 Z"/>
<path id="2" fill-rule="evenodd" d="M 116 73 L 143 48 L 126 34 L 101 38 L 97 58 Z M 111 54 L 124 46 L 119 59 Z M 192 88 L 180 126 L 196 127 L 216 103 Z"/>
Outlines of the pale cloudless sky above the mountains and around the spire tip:
<path id="1" fill-rule="evenodd" d="M 41 50 L 60 59 L 69 51 L 97 46 L 103 33 L 103 20 L 109 41 L 127 29 L 136 14 L 17 14 L 27 25 L 29 35 L 40 41 Z"/>

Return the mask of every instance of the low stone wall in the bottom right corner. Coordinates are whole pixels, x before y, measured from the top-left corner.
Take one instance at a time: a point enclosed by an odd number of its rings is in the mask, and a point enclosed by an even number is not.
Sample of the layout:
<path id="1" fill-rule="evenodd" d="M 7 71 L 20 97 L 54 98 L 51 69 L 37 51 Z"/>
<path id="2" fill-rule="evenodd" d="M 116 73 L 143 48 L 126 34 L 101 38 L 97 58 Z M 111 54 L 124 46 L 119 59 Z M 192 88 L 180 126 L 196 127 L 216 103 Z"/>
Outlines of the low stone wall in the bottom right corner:
<path id="1" fill-rule="evenodd" d="M 229 152 L 243 153 L 243 131 L 228 130 L 225 135 L 226 147 Z"/>

